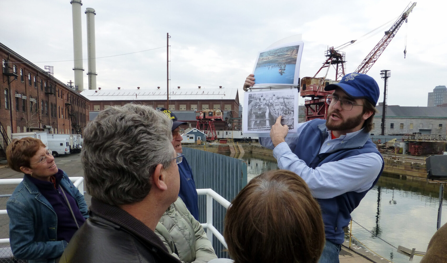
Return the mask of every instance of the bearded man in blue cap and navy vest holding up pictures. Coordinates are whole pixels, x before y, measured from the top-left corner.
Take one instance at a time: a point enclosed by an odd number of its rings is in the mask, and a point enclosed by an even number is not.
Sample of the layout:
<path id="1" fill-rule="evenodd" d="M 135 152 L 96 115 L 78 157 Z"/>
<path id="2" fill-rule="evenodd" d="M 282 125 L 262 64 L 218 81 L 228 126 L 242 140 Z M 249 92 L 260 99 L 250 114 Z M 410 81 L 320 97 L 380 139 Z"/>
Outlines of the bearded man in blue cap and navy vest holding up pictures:
<path id="1" fill-rule="evenodd" d="M 244 88 L 254 84 L 254 75 Z M 297 136 L 286 137 L 281 116 L 260 143 L 273 149 L 280 169 L 291 170 L 307 182 L 320 204 L 326 244 L 319 263 L 339 262 L 343 229 L 350 213 L 378 181 L 384 161 L 369 132 L 379 99 L 377 82 L 365 74 L 350 73 L 337 84 L 327 85 L 329 104 L 326 120 L 299 123 Z"/>

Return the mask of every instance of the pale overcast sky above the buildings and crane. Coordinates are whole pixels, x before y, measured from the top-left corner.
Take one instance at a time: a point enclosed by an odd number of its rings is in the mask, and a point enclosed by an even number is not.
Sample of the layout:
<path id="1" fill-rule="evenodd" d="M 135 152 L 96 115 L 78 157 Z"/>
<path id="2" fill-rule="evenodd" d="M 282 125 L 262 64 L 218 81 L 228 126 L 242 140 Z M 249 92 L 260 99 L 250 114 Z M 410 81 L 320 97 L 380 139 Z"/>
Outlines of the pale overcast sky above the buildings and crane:
<path id="1" fill-rule="evenodd" d="M 383 37 L 362 36 L 394 22 L 407 0 L 227 0 L 147 1 L 82 0 L 83 57 L 87 58 L 85 8 L 96 10 L 97 86 L 166 88 L 166 33 L 171 38 L 170 86 L 239 88 L 253 72 L 259 51 L 273 42 L 302 34 L 300 77 L 313 76 L 325 61 L 327 47 L 346 47 L 346 73 Z M 72 6 L 70 0 L 0 0 L 0 42 L 41 68 L 54 66 L 60 81 L 74 81 Z M 427 106 L 427 93 L 447 85 L 447 1 L 422 0 L 387 49 L 367 73 L 384 82 L 391 70 L 388 105 Z M 404 59 L 405 38 L 407 56 Z M 84 74 L 87 61 L 84 60 Z M 320 75 L 319 75 L 320 76 Z M 335 72 L 328 75 L 334 79 Z M 84 88 L 88 78 L 84 75 Z M 379 101 L 382 101 L 381 95 Z M 300 98 L 299 104 L 304 102 Z"/>

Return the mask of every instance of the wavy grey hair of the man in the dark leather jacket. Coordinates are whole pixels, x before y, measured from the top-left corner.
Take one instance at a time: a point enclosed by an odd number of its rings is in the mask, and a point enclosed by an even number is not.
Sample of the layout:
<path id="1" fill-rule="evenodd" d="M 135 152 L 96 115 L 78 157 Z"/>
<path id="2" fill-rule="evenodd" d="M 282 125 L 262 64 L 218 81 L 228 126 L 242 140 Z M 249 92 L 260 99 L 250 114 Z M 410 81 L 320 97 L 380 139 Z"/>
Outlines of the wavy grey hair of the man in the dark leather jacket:
<path id="1" fill-rule="evenodd" d="M 81 161 L 86 189 L 111 205 L 146 197 L 156 165 L 169 168 L 172 121 L 149 106 L 110 107 L 87 124 Z"/>

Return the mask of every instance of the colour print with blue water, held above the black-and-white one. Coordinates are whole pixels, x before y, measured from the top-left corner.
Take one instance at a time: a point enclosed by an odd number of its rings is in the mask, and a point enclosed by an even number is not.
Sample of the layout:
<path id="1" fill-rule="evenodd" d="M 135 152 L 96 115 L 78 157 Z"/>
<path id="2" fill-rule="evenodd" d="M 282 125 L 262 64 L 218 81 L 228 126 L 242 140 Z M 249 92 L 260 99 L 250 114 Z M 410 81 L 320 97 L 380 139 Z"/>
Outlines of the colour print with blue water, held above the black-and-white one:
<path id="1" fill-rule="evenodd" d="M 295 42 L 259 52 L 254 85 L 298 86 L 302 49 L 303 42 Z"/>

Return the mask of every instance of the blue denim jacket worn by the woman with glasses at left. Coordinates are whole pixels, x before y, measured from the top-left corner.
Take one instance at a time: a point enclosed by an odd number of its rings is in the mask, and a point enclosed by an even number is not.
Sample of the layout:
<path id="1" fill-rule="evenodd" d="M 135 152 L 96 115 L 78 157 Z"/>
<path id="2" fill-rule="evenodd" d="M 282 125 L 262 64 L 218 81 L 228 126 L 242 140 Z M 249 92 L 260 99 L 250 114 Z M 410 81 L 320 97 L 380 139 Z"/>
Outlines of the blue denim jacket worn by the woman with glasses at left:
<path id="1" fill-rule="evenodd" d="M 88 218 L 84 195 L 63 172 L 59 184 L 72 195 L 84 218 Z M 57 215 L 50 202 L 26 176 L 6 202 L 9 216 L 9 243 L 17 259 L 29 263 L 54 263 L 67 246 L 57 241 Z"/>

